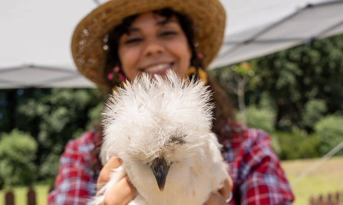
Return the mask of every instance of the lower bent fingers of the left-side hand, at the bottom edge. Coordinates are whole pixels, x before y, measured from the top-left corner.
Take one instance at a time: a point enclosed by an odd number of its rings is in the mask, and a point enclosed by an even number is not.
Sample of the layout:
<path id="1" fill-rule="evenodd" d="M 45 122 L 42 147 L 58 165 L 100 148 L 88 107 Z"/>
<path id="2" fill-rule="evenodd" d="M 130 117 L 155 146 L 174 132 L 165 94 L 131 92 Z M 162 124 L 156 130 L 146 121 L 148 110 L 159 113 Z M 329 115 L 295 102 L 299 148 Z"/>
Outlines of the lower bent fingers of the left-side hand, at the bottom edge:
<path id="1" fill-rule="evenodd" d="M 128 204 L 136 195 L 137 190 L 129 182 L 128 177 L 124 177 L 106 193 L 104 204 Z"/>

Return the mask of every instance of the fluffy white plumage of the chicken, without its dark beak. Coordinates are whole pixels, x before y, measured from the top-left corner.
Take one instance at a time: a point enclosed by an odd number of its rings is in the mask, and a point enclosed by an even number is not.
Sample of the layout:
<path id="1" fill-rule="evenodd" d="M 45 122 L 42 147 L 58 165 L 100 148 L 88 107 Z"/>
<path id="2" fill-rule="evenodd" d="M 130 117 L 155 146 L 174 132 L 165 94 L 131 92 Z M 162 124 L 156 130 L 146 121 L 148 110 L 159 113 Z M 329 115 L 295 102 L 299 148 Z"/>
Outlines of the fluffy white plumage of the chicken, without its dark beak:
<path id="1" fill-rule="evenodd" d="M 123 165 L 108 184 L 126 172 L 140 194 L 130 204 L 204 203 L 227 178 L 221 146 L 211 133 L 210 97 L 202 81 L 190 82 L 172 71 L 166 77 L 143 73 L 114 92 L 103 113 L 100 156 L 105 164 L 116 155 Z M 156 159 L 169 170 L 163 191 L 152 170 Z M 96 203 L 112 185 L 100 190 Z"/>

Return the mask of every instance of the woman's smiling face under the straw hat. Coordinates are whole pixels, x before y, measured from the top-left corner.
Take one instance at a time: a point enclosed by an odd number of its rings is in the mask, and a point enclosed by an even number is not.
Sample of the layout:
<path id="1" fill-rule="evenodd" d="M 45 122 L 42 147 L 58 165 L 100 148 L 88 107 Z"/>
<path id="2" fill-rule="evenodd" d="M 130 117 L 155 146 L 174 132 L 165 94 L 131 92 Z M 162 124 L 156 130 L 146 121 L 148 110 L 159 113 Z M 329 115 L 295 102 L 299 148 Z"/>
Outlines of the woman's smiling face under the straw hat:
<path id="1" fill-rule="evenodd" d="M 163 75 L 168 69 L 185 75 L 192 57 L 177 18 L 167 20 L 153 12 L 133 21 L 128 34 L 119 39 L 118 54 L 128 80 L 142 72 Z"/>

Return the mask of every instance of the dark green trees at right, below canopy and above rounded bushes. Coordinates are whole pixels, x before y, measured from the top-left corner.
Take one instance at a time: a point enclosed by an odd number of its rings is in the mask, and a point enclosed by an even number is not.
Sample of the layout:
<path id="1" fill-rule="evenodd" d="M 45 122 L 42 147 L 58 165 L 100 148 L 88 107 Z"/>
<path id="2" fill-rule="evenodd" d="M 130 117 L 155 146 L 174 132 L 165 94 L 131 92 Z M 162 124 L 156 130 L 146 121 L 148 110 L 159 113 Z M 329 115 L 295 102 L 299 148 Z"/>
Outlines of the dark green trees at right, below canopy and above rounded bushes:
<path id="1" fill-rule="evenodd" d="M 312 99 L 323 100 L 327 105 L 327 111 L 322 114 L 340 109 L 342 56 L 343 35 L 259 58 L 256 73 L 261 80 L 250 96 L 267 90 L 277 102 L 277 120 L 289 120 L 292 125 L 303 127 L 300 113 Z M 282 128 L 280 124 L 279 127 Z"/>

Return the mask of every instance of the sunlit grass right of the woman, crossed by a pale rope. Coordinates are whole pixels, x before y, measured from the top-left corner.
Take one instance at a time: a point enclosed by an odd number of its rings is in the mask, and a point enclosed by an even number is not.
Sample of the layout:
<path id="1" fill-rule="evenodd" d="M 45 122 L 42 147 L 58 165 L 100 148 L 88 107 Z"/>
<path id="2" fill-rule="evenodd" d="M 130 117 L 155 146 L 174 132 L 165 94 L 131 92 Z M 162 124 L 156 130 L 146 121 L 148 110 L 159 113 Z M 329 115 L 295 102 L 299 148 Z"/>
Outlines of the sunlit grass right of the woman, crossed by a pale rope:
<path id="1" fill-rule="evenodd" d="M 283 161 L 288 180 L 292 182 L 300 173 L 316 163 L 318 159 Z M 309 204 L 309 197 L 327 195 L 339 191 L 343 194 L 343 157 L 333 157 L 324 162 L 314 172 L 292 185 L 296 200 L 295 205 Z"/>

